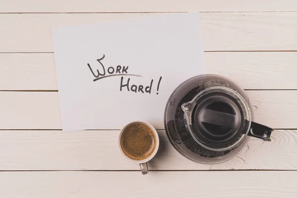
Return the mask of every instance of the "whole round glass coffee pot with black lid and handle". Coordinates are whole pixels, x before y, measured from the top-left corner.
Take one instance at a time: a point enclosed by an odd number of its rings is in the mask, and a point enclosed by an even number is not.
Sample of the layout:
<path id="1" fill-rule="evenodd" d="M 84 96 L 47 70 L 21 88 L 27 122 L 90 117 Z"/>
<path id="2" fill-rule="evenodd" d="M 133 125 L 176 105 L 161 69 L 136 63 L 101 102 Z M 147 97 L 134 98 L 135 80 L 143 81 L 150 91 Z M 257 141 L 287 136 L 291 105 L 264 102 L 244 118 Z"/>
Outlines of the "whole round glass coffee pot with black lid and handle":
<path id="1" fill-rule="evenodd" d="M 253 122 L 247 93 L 218 75 L 199 75 L 179 85 L 168 99 L 164 124 L 171 144 L 199 163 L 236 156 L 250 137 L 271 141 L 273 129 Z"/>

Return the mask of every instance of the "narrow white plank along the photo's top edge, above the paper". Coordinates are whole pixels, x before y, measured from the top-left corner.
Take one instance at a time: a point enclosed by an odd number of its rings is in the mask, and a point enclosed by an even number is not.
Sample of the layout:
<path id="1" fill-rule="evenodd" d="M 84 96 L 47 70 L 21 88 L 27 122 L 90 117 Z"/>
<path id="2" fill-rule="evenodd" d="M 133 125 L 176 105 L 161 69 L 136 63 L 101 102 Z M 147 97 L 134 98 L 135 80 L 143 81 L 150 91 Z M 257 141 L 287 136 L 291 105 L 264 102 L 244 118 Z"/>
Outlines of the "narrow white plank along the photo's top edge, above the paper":
<path id="1" fill-rule="evenodd" d="M 0 12 L 297 11 L 295 0 L 2 0 Z"/>

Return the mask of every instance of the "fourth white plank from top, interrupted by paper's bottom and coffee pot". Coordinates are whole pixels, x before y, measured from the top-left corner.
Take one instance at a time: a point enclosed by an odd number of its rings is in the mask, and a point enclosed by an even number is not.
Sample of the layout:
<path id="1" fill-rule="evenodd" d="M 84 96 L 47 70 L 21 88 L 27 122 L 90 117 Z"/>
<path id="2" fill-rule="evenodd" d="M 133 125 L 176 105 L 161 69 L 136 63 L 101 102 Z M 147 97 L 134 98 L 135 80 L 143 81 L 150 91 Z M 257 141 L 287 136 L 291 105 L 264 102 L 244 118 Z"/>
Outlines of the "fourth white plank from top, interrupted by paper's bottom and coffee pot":
<path id="1" fill-rule="evenodd" d="M 247 91 L 255 121 L 297 128 L 297 91 Z M 57 92 L 0 92 L 0 129 L 61 129 Z M 152 123 L 164 129 L 163 121 Z"/>

